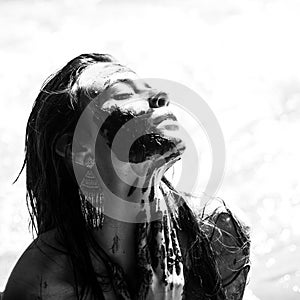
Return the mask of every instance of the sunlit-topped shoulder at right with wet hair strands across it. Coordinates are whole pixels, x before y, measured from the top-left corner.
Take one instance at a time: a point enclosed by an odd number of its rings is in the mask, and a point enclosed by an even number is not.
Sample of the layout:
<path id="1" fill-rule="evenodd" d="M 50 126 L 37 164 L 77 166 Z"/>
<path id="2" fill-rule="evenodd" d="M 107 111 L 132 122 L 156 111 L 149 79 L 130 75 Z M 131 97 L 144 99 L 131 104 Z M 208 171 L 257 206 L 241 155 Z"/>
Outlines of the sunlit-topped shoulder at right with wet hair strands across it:
<path id="1" fill-rule="evenodd" d="M 199 218 L 211 242 L 226 297 L 242 299 L 250 269 L 250 227 L 243 213 L 216 199 L 213 209 L 203 211 Z"/>

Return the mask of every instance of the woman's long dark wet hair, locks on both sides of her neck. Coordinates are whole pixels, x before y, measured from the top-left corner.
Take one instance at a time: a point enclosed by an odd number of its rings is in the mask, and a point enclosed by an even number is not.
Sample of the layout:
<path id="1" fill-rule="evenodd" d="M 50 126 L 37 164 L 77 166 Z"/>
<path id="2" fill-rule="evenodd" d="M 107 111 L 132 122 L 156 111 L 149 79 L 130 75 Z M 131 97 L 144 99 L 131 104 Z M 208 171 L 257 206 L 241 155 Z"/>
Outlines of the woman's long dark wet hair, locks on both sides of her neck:
<path id="1" fill-rule="evenodd" d="M 54 228 L 57 230 L 58 240 L 71 259 L 77 299 L 84 299 L 86 295 L 104 299 L 103 291 L 109 278 L 114 276 L 114 269 L 107 254 L 89 230 L 81 210 L 82 196 L 78 183 L 64 160 L 56 154 L 55 147 L 57 140 L 66 133 L 70 134 L 70 144 L 72 143 L 72 135 L 83 111 L 79 101 L 80 87 L 76 85 L 81 73 L 90 65 L 106 62 L 115 63 L 116 60 L 107 54 L 82 54 L 52 75 L 44 83 L 34 102 L 26 128 L 22 170 L 26 168 L 26 200 L 32 230 L 37 236 Z M 187 252 L 190 253 L 191 265 L 184 266 L 184 276 L 189 279 L 190 284 L 199 287 L 194 296 L 225 299 L 210 246 L 212 240 L 208 237 L 212 237 L 214 231 L 207 235 L 199 227 L 199 216 L 183 200 L 183 194 L 178 193 L 165 177 L 163 183 L 171 196 L 170 207 L 174 208 L 171 214 L 177 210 L 179 227 L 188 234 Z M 178 203 L 181 204 L 177 207 Z M 248 240 L 243 232 L 240 240 L 244 243 L 240 247 L 247 250 Z M 104 263 L 108 276 L 95 272 L 90 249 Z M 242 271 L 245 266 L 238 271 Z M 185 286 L 185 290 L 188 293 L 193 288 Z"/>

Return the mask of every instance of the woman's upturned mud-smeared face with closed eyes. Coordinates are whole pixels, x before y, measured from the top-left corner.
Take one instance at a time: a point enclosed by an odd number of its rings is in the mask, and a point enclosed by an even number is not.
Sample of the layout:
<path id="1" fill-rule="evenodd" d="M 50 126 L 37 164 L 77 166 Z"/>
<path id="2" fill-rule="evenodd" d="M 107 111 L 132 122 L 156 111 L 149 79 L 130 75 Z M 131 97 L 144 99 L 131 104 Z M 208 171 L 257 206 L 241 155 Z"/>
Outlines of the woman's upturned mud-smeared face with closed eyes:
<path id="1" fill-rule="evenodd" d="M 139 163 L 159 156 L 168 160 L 184 151 L 168 95 L 151 88 L 130 69 L 115 63 L 95 64 L 84 70 L 78 84 L 82 97 L 95 104 L 99 132 L 121 161 Z"/>

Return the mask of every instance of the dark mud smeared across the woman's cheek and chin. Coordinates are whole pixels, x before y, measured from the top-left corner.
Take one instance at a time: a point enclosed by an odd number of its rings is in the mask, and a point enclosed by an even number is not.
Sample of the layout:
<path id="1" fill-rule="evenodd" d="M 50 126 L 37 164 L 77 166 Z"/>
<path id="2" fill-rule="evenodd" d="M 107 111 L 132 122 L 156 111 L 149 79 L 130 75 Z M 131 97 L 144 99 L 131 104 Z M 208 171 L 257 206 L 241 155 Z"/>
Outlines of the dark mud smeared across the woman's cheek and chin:
<path id="1" fill-rule="evenodd" d="M 105 121 L 99 133 L 119 160 L 140 163 L 170 152 L 164 157 L 168 161 L 179 155 L 171 138 L 163 136 L 162 132 L 149 122 L 147 112 L 134 113 L 114 107 L 111 111 L 103 111 L 101 114 L 105 115 Z M 124 149 L 129 149 L 129 155 Z"/>

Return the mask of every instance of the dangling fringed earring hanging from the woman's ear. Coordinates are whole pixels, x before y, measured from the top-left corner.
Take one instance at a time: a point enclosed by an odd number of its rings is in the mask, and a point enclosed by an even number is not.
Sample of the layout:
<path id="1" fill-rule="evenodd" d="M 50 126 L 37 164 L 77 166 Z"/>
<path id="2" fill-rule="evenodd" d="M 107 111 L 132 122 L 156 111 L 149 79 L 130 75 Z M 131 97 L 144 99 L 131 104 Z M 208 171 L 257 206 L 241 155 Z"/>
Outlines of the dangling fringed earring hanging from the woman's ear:
<path id="1" fill-rule="evenodd" d="M 99 181 L 93 171 L 96 168 L 95 159 L 91 156 L 85 162 L 86 173 L 80 184 L 83 195 L 82 213 L 90 228 L 102 228 L 104 219 L 104 195 Z"/>

